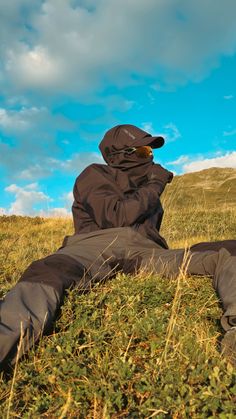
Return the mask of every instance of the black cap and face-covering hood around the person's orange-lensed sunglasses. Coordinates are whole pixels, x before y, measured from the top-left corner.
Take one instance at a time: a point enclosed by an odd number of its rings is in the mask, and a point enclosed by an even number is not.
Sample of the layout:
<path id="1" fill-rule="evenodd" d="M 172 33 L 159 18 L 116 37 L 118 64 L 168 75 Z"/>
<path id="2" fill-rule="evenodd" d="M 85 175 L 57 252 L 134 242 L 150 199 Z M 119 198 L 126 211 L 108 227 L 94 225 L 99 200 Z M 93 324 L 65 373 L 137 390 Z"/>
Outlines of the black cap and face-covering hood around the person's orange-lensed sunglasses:
<path id="1" fill-rule="evenodd" d="M 159 148 L 164 145 L 163 137 L 153 137 L 134 125 L 117 125 L 107 131 L 99 144 L 105 162 L 112 167 L 127 170 L 152 161 L 152 157 L 140 158 L 126 152 L 116 153 L 130 147 L 150 145 Z"/>

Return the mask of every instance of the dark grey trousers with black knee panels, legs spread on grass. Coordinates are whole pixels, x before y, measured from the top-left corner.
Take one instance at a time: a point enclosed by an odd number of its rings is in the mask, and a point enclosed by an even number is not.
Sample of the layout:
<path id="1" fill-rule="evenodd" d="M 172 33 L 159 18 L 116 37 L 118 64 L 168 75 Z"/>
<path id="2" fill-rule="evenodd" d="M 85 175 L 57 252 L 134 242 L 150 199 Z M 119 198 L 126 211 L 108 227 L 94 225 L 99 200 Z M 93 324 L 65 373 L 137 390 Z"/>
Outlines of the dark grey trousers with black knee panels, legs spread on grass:
<path id="1" fill-rule="evenodd" d="M 192 251 L 186 270 L 212 277 L 224 308 L 222 326 L 227 330 L 228 317 L 236 315 L 236 257 L 218 247 L 219 251 Z M 19 342 L 20 356 L 52 326 L 67 289 L 76 286 L 87 291 L 119 271 L 146 269 L 177 277 L 184 255 L 183 249 L 163 249 L 129 227 L 67 238 L 56 253 L 33 262 L 0 302 L 0 365 L 14 363 Z"/>

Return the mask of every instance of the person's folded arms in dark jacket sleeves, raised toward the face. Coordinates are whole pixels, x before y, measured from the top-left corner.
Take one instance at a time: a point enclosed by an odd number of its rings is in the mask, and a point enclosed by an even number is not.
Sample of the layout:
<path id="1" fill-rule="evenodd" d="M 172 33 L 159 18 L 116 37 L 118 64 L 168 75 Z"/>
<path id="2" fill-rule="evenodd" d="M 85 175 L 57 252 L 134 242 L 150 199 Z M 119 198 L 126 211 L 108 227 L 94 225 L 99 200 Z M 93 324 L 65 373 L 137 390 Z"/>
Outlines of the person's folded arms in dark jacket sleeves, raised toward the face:
<path id="1" fill-rule="evenodd" d="M 151 176 L 147 184 L 125 197 L 90 167 L 77 178 L 74 198 L 83 204 L 99 228 L 131 226 L 142 223 L 155 212 L 169 177 L 170 172 L 163 169 L 161 176 Z"/>

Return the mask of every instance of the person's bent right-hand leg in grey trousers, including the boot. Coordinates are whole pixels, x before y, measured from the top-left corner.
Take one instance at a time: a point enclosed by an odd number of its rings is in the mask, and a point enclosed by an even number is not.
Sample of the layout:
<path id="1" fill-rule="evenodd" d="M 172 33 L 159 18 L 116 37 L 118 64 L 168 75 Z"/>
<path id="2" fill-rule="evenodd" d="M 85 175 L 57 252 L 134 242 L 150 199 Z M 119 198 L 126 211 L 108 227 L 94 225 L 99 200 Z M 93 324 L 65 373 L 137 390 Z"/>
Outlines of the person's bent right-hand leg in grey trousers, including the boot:
<path id="1" fill-rule="evenodd" d="M 193 275 L 209 275 L 224 309 L 221 324 L 226 331 L 221 342 L 222 354 L 236 367 L 236 257 L 221 248 L 218 252 L 190 253 L 184 261 L 184 250 L 141 250 L 141 269 L 148 267 L 158 274 L 176 277 L 180 269 Z M 183 266 L 185 265 L 185 266 Z"/>

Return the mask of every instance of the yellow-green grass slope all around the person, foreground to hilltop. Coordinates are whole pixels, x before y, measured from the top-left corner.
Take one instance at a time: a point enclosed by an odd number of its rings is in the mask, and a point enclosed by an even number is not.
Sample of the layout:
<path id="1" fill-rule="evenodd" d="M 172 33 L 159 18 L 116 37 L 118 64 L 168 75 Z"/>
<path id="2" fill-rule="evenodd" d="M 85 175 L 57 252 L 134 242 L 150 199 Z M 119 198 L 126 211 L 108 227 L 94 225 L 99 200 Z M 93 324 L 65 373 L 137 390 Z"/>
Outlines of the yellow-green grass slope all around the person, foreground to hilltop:
<path id="1" fill-rule="evenodd" d="M 233 176 L 211 169 L 169 186 L 162 233 L 171 246 L 235 238 L 236 194 L 225 187 Z M 212 189 L 201 192 L 200 205 L 193 185 L 201 179 L 208 188 L 214 182 L 217 206 Z M 191 206 L 183 206 L 184 193 Z M 70 220 L 3 217 L 2 295 L 72 230 Z M 236 372 L 218 351 L 220 315 L 208 278 L 118 275 L 90 294 L 72 291 L 55 332 L 18 364 L 14 380 L 0 379 L 2 417 L 234 418 Z"/>

